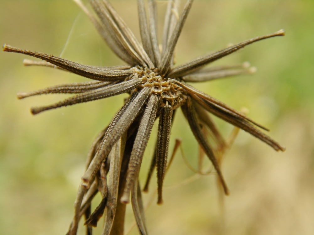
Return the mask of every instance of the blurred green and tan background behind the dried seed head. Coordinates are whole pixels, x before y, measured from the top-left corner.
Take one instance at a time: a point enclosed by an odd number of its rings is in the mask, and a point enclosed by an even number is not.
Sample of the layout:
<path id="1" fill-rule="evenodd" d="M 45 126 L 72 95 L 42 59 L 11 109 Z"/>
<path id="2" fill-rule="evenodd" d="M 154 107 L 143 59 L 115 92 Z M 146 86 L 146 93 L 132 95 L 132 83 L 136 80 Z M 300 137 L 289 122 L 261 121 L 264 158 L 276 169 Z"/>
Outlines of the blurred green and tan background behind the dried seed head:
<path id="1" fill-rule="evenodd" d="M 136 2 L 111 2 L 138 36 Z M 2 44 L 54 55 L 63 51 L 64 58 L 89 65 L 122 63 L 71 0 L 0 3 Z M 160 1 L 158 7 L 162 17 L 165 1 Z M 159 23 L 161 32 L 163 19 Z M 285 37 L 249 45 L 214 63 L 250 61 L 258 68 L 255 75 L 196 87 L 236 109 L 247 107 L 249 117 L 269 127 L 270 136 L 287 150 L 277 153 L 240 132 L 222 164 L 230 188 L 223 211 L 213 175 L 178 185 L 194 173 L 177 153 L 165 179 L 169 187 L 164 190 L 164 204 L 157 206 L 154 199 L 146 213 L 150 234 L 313 234 L 314 2 L 195 1 L 179 39 L 176 58 L 180 64 L 229 43 L 279 29 L 285 29 Z M 31 106 L 50 104 L 64 96 L 18 101 L 17 92 L 87 79 L 51 68 L 24 67 L 24 58 L 29 57 L 0 53 L 1 233 L 65 234 L 89 146 L 126 96 L 32 116 Z M 227 137 L 232 127 L 221 121 L 218 124 Z M 155 135 L 156 127 L 151 136 Z M 170 150 L 175 138 L 182 139 L 184 153 L 196 167 L 198 147 L 181 111 L 171 133 Z M 143 159 L 142 185 L 153 143 L 151 138 Z M 210 164 L 206 161 L 204 165 Z M 155 181 L 150 191 L 154 191 Z M 126 230 L 132 223 L 132 209 L 128 208 Z M 99 228 L 95 231 L 100 232 Z M 84 234 L 82 226 L 79 234 Z M 138 234 L 137 229 L 130 234 Z"/>

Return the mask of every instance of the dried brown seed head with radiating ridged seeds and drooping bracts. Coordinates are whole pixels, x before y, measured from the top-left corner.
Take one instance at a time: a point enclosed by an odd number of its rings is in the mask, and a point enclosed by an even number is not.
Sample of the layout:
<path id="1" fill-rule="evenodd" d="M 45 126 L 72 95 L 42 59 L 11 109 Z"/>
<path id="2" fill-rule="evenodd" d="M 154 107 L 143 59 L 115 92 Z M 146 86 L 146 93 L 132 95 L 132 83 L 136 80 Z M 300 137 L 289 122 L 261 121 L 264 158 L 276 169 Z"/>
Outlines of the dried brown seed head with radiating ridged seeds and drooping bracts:
<path id="1" fill-rule="evenodd" d="M 45 60 L 42 62 L 24 60 L 25 65 L 50 66 L 94 80 L 19 93 L 19 99 L 50 93 L 76 94 L 48 106 L 33 107 L 32 114 L 121 93 L 130 95 L 109 126 L 97 136 L 89 151 L 86 171 L 78 189 L 74 204 L 74 218 L 68 234 L 77 233 L 78 222 L 83 215 L 86 220 L 87 234 L 92 234 L 91 227 L 97 225 L 104 213 L 106 222 L 103 234 L 123 234 L 125 204 L 129 203 L 130 197 L 138 229 L 141 234 L 147 234 L 138 182 L 143 153 L 153 124 L 159 117 L 155 151 L 144 191 L 148 190 L 149 180 L 156 167 L 157 203 L 160 204 L 163 202 L 162 186 L 167 166 L 171 125 L 176 109 L 179 107 L 202 151 L 212 162 L 225 194 L 228 194 L 228 188 L 219 168 L 217 158 L 220 159 L 220 157 L 208 141 L 204 127 L 209 130 L 217 146 L 220 146 L 221 153 L 224 152 L 227 144 L 209 113 L 252 134 L 276 151 L 284 151 L 283 146 L 258 129 L 267 130 L 267 128 L 247 118 L 242 112 L 187 84 L 187 82 L 210 81 L 253 73 L 255 68 L 249 68 L 247 63 L 209 68 L 204 68 L 204 66 L 246 45 L 275 36 L 283 36 L 283 30 L 249 39 L 174 67 L 174 50 L 193 0 L 187 1 L 180 16 L 178 14 L 180 1 L 168 1 L 161 46 L 157 37 L 157 12 L 154 0 L 148 2 L 148 14 L 146 14 L 143 0 L 138 0 L 142 44 L 106 0 L 89 0 L 98 18 L 90 13 L 80 0 L 74 0 L 74 2 L 90 18 L 111 50 L 128 65 L 115 67 L 81 65 L 53 55 L 22 50 L 7 44 L 3 46 L 4 51 L 22 53 Z M 90 204 L 97 192 L 100 192 L 103 199 L 91 213 Z"/>

